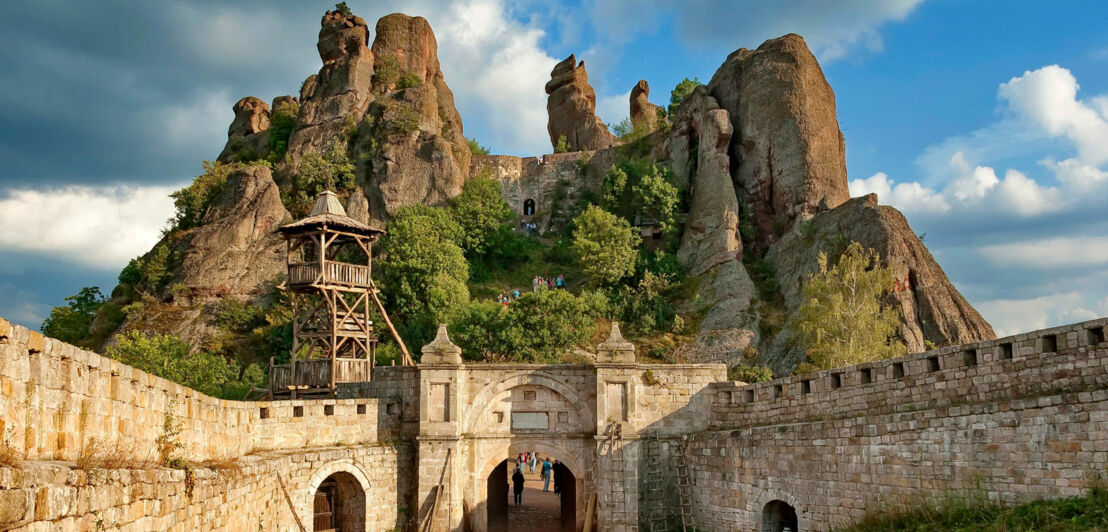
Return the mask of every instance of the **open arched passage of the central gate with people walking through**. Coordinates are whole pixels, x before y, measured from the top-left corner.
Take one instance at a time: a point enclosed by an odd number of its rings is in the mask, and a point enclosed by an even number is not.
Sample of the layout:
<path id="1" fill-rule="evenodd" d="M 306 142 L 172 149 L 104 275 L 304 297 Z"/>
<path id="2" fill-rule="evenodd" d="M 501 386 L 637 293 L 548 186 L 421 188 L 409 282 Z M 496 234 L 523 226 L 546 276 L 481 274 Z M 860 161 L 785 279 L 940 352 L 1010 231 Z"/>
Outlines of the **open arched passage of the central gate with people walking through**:
<path id="1" fill-rule="evenodd" d="M 524 491 L 515 502 L 515 457 L 500 462 L 486 479 L 489 532 L 534 531 L 574 532 L 577 530 L 577 477 L 564 462 L 540 453 L 534 472 L 524 464 Z M 541 479 L 543 459 L 551 460 L 551 481 Z M 548 484 L 548 485 L 547 485 Z M 550 491 L 543 490 L 546 487 Z"/>

